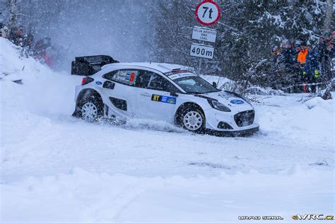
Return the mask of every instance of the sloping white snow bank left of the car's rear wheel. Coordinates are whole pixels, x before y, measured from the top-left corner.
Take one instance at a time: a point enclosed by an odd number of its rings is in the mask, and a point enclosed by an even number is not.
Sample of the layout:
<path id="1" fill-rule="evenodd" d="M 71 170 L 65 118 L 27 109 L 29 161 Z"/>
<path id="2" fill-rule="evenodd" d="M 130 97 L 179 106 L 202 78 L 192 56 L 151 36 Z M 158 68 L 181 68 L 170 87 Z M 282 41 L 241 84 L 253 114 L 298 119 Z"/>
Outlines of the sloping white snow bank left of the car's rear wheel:
<path id="1" fill-rule="evenodd" d="M 74 85 L 80 77 L 53 72 L 32 57 L 20 58 L 20 47 L 4 38 L 0 38 L 0 49 L 1 127 L 12 126 L 1 131 L 1 144 L 39 122 L 37 115 L 71 115 Z M 13 82 L 18 79 L 23 85 Z"/>

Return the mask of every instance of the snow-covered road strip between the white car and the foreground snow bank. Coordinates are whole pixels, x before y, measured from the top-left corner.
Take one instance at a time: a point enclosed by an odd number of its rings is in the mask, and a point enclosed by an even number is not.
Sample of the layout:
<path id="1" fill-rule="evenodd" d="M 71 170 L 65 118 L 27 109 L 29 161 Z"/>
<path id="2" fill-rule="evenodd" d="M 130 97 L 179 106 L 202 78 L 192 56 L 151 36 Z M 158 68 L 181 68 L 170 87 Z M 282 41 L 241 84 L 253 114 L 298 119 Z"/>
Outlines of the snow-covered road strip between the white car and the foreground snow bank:
<path id="1" fill-rule="evenodd" d="M 148 130 L 42 117 L 23 135 L 16 128 L 4 130 L 18 142 L 4 146 L 3 176 L 45 176 L 76 167 L 139 176 L 213 176 L 249 169 L 274 173 L 293 164 L 334 168 L 334 148 L 327 142 L 311 144 L 304 137 L 295 141 L 263 131 L 249 138 L 221 138 L 164 130 L 166 125 Z"/>

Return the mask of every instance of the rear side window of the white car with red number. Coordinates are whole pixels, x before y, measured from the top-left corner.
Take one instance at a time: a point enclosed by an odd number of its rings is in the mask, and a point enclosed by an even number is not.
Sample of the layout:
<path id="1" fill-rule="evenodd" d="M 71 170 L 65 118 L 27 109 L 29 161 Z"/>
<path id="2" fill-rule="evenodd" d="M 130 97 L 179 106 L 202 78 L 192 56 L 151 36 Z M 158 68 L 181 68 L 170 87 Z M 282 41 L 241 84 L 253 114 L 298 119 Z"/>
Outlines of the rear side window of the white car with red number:
<path id="1" fill-rule="evenodd" d="M 136 84 L 136 77 L 138 76 L 138 70 L 132 69 L 119 69 L 113 72 L 104 74 L 102 77 L 110 81 L 115 81 L 120 84 L 126 84 L 134 86 Z"/>

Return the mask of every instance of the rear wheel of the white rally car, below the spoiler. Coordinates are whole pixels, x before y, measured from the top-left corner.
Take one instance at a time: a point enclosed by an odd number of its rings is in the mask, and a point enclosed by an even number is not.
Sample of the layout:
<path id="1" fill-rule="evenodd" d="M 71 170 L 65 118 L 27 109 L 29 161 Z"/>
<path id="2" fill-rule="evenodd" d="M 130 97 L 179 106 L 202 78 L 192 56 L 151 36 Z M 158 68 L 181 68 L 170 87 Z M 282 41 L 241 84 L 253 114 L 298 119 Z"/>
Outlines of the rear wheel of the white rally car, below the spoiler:
<path id="1" fill-rule="evenodd" d="M 87 98 L 79 105 L 80 117 L 88 122 L 96 122 L 103 116 L 103 103 L 93 97 Z"/>

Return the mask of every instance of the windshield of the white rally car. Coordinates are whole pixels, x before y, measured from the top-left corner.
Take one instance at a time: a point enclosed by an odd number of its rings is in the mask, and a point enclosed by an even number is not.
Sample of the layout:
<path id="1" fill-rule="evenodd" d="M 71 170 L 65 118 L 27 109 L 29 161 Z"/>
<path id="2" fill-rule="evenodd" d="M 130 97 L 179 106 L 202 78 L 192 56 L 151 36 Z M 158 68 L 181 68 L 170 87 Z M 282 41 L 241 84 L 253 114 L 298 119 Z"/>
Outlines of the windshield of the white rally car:
<path id="1" fill-rule="evenodd" d="M 192 73 L 172 74 L 168 76 L 186 93 L 209 93 L 219 91 L 200 76 Z"/>

